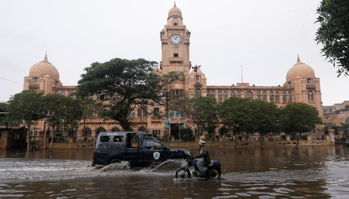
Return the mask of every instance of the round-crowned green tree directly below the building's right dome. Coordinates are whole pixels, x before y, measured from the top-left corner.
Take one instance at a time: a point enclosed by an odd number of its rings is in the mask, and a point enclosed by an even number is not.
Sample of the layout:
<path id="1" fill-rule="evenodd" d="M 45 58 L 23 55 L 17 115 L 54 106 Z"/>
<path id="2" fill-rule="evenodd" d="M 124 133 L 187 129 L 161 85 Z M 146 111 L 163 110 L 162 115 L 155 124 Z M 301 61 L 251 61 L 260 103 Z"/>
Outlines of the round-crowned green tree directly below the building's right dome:
<path id="1" fill-rule="evenodd" d="M 316 125 L 322 124 L 319 111 L 305 103 L 287 104 L 281 109 L 282 130 L 287 135 L 296 137 L 299 145 L 299 133 L 306 133 L 313 130 Z"/>

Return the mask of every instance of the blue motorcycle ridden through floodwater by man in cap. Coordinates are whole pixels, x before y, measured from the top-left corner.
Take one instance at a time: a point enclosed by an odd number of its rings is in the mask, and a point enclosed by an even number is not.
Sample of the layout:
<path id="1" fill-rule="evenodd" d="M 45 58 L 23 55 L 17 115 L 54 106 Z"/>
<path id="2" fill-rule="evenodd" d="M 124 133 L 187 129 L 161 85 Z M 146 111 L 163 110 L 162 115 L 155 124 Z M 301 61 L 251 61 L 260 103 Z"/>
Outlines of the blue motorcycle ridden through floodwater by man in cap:
<path id="1" fill-rule="evenodd" d="M 195 160 L 193 157 L 187 158 L 187 165 L 182 168 L 178 168 L 176 172 L 176 178 L 185 178 L 189 177 L 191 178 L 189 167 L 194 167 L 193 175 L 197 178 L 213 178 L 220 180 L 221 173 L 222 173 L 222 165 L 220 160 L 211 161 L 210 165 L 207 168 L 207 171 L 205 172 L 205 175 L 203 175 L 199 168 L 196 166 L 198 164 L 198 161 Z"/>

